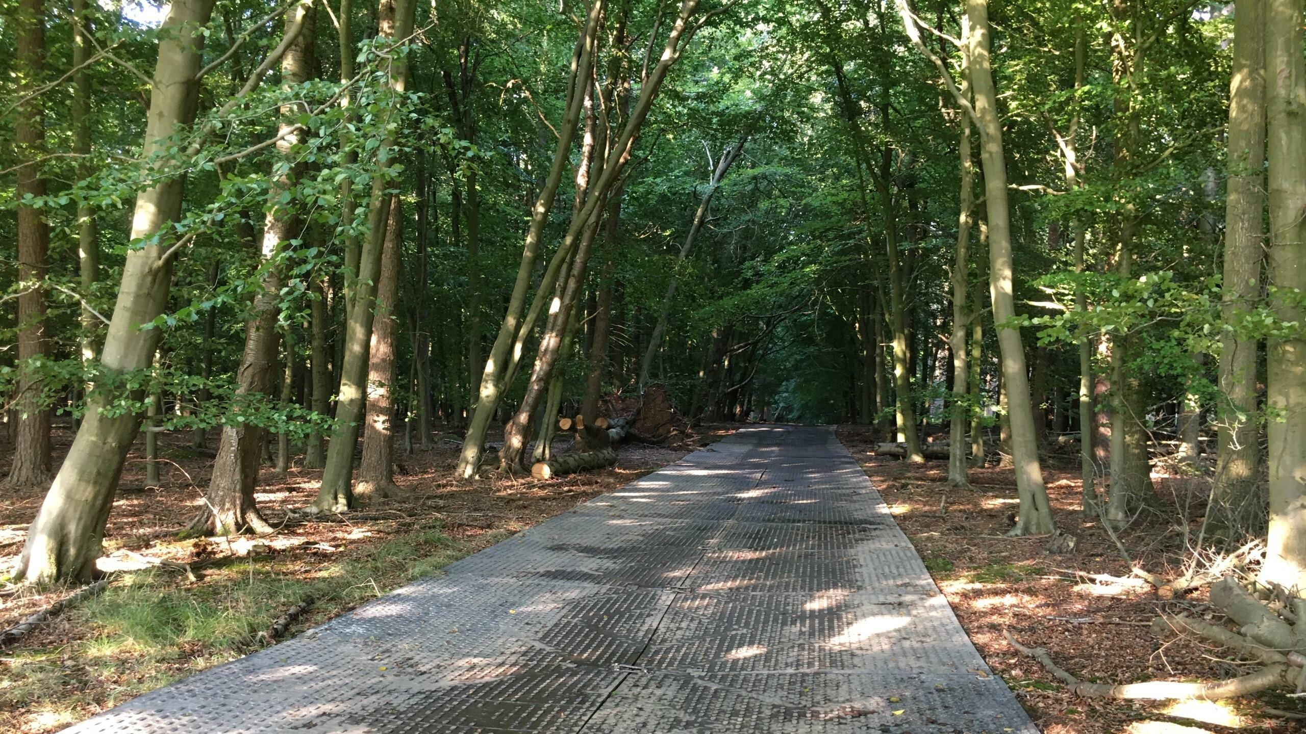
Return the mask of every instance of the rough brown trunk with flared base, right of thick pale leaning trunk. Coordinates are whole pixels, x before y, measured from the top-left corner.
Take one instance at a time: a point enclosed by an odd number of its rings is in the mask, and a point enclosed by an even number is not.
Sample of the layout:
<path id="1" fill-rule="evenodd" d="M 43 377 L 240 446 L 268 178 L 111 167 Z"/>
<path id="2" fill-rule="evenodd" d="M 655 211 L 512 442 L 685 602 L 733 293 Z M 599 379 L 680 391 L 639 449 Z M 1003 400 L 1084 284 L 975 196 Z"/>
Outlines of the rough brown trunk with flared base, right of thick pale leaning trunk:
<path id="1" fill-rule="evenodd" d="M 311 74 L 312 57 L 312 4 L 302 1 L 286 13 L 286 37 L 293 38 L 281 57 L 282 86 L 290 89 L 303 84 Z M 295 118 L 303 114 L 302 104 L 286 104 L 281 110 L 281 124 L 277 131 L 277 163 L 293 163 L 294 148 L 299 144 Z M 246 323 L 244 354 L 236 370 L 235 402 L 222 422 L 222 438 L 218 441 L 218 455 L 213 461 L 213 477 L 209 490 L 204 494 L 204 508 L 191 521 L 191 530 L 212 535 L 231 535 L 253 530 L 259 534 L 272 533 L 272 526 L 264 520 L 255 505 L 253 488 L 259 482 L 259 464 L 268 445 L 268 430 L 257 421 L 244 421 L 242 410 L 256 410 L 259 404 L 270 402 L 273 391 L 279 387 L 281 371 L 277 360 L 279 333 L 277 320 L 281 313 L 279 300 L 283 278 L 277 263 L 279 251 L 296 236 L 299 218 L 295 204 L 281 204 L 283 193 L 294 187 L 295 170 L 273 179 L 268 191 L 268 213 L 263 223 L 263 287 L 255 295 L 251 317 Z M 290 349 L 287 345 L 287 360 Z"/>

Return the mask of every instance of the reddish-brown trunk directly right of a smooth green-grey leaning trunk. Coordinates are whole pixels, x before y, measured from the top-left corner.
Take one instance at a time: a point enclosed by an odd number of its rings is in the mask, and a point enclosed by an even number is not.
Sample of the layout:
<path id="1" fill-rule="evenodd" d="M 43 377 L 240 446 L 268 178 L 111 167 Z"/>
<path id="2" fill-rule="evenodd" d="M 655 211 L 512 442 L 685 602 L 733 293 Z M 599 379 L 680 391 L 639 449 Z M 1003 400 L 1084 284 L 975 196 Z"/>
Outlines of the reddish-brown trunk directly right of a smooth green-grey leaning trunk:
<path id="1" fill-rule="evenodd" d="M 398 196 L 390 197 L 390 221 L 385 227 L 381 281 L 376 286 L 376 317 L 367 367 L 367 421 L 363 424 L 363 458 L 358 464 L 354 495 L 363 503 L 398 496 L 394 483 L 394 308 L 398 296 L 400 249 L 404 246 L 404 210 Z"/>

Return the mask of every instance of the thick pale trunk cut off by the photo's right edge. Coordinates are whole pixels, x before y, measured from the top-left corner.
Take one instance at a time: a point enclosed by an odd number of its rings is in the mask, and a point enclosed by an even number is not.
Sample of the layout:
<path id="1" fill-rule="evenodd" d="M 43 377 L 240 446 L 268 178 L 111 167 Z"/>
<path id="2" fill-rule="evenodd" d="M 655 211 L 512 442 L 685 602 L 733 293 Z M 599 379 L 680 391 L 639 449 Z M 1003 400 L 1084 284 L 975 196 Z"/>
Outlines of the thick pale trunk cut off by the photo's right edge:
<path id="1" fill-rule="evenodd" d="M 1306 321 L 1306 64 L 1302 0 L 1266 3 L 1266 158 L 1269 191 L 1269 282 L 1275 315 Z M 1299 329 L 1267 340 L 1269 534 L 1264 581 L 1306 596 L 1306 337 Z"/>

